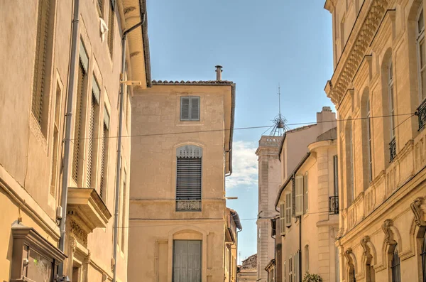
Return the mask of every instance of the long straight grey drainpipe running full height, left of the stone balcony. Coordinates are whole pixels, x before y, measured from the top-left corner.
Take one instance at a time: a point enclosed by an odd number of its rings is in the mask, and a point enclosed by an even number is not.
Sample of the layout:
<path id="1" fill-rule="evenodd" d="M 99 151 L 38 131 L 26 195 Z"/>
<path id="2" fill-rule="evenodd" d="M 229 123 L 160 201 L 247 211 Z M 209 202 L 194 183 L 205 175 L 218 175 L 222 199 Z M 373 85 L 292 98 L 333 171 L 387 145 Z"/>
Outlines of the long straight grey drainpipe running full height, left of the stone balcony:
<path id="1" fill-rule="evenodd" d="M 69 178 L 69 163 L 70 163 L 70 138 L 71 138 L 71 121 L 72 121 L 72 97 L 74 95 L 75 82 L 75 65 L 77 60 L 77 39 L 80 13 L 80 0 L 74 1 L 74 12 L 72 16 L 72 38 L 71 38 L 71 53 L 70 53 L 70 76 L 68 78 L 68 99 L 67 99 L 67 114 L 65 114 L 65 139 L 64 139 L 64 170 L 62 174 L 62 191 L 60 195 L 60 206 L 62 207 L 62 218 L 60 219 L 59 230 L 59 249 L 65 251 L 65 223 L 67 218 L 67 197 L 68 197 L 68 178 Z M 59 278 L 64 278 L 64 263 L 59 266 Z"/>

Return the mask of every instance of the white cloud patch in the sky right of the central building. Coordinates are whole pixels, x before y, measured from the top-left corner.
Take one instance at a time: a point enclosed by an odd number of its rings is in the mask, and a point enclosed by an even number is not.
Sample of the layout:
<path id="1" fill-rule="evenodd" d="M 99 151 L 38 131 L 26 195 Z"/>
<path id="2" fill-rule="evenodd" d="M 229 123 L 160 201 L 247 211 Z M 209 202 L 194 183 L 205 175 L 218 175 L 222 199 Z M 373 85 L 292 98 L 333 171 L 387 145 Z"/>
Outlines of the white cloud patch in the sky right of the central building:
<path id="1" fill-rule="evenodd" d="M 226 178 L 226 188 L 257 186 L 256 148 L 253 142 L 235 141 L 232 144 L 232 174 Z"/>

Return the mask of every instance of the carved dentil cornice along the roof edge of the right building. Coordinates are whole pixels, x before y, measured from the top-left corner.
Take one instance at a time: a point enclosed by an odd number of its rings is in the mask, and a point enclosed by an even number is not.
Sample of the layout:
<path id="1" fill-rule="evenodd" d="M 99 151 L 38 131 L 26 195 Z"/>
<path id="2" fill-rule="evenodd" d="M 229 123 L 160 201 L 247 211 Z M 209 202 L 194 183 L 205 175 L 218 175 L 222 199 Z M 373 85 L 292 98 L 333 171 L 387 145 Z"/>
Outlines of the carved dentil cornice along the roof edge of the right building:
<path id="1" fill-rule="evenodd" d="M 330 82 L 326 86 L 327 97 L 339 107 L 346 90 L 358 70 L 366 50 L 376 34 L 381 19 L 386 13 L 389 0 L 372 0 L 370 6 L 361 9 L 358 20 L 347 40 L 339 63 Z M 365 6 L 365 4 L 364 4 Z"/>

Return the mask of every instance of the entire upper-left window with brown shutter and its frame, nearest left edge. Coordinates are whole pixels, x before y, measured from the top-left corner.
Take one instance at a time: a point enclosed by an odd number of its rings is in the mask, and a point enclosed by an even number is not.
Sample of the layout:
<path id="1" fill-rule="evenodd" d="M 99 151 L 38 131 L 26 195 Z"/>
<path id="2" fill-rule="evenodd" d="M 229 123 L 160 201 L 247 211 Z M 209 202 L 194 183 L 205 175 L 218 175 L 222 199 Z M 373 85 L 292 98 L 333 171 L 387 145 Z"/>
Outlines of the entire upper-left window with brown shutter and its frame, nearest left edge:
<path id="1" fill-rule="evenodd" d="M 33 72 L 33 96 L 31 98 L 31 112 L 38 121 L 43 134 L 46 133 L 45 127 L 48 114 L 48 96 L 49 96 L 49 68 L 52 55 L 49 46 L 52 44 L 53 35 L 53 13 L 54 6 L 52 0 L 38 1 L 37 33 L 35 39 L 35 61 Z"/>

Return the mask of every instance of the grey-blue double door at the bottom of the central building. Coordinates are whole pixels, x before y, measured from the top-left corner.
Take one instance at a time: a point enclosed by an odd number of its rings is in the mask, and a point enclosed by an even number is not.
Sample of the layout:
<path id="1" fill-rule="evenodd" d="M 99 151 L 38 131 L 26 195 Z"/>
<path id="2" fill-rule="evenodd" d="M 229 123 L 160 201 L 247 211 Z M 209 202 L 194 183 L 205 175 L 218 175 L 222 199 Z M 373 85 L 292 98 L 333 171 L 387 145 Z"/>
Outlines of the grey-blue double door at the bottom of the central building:
<path id="1" fill-rule="evenodd" d="M 173 241 L 173 282 L 201 282 L 201 241 Z"/>

